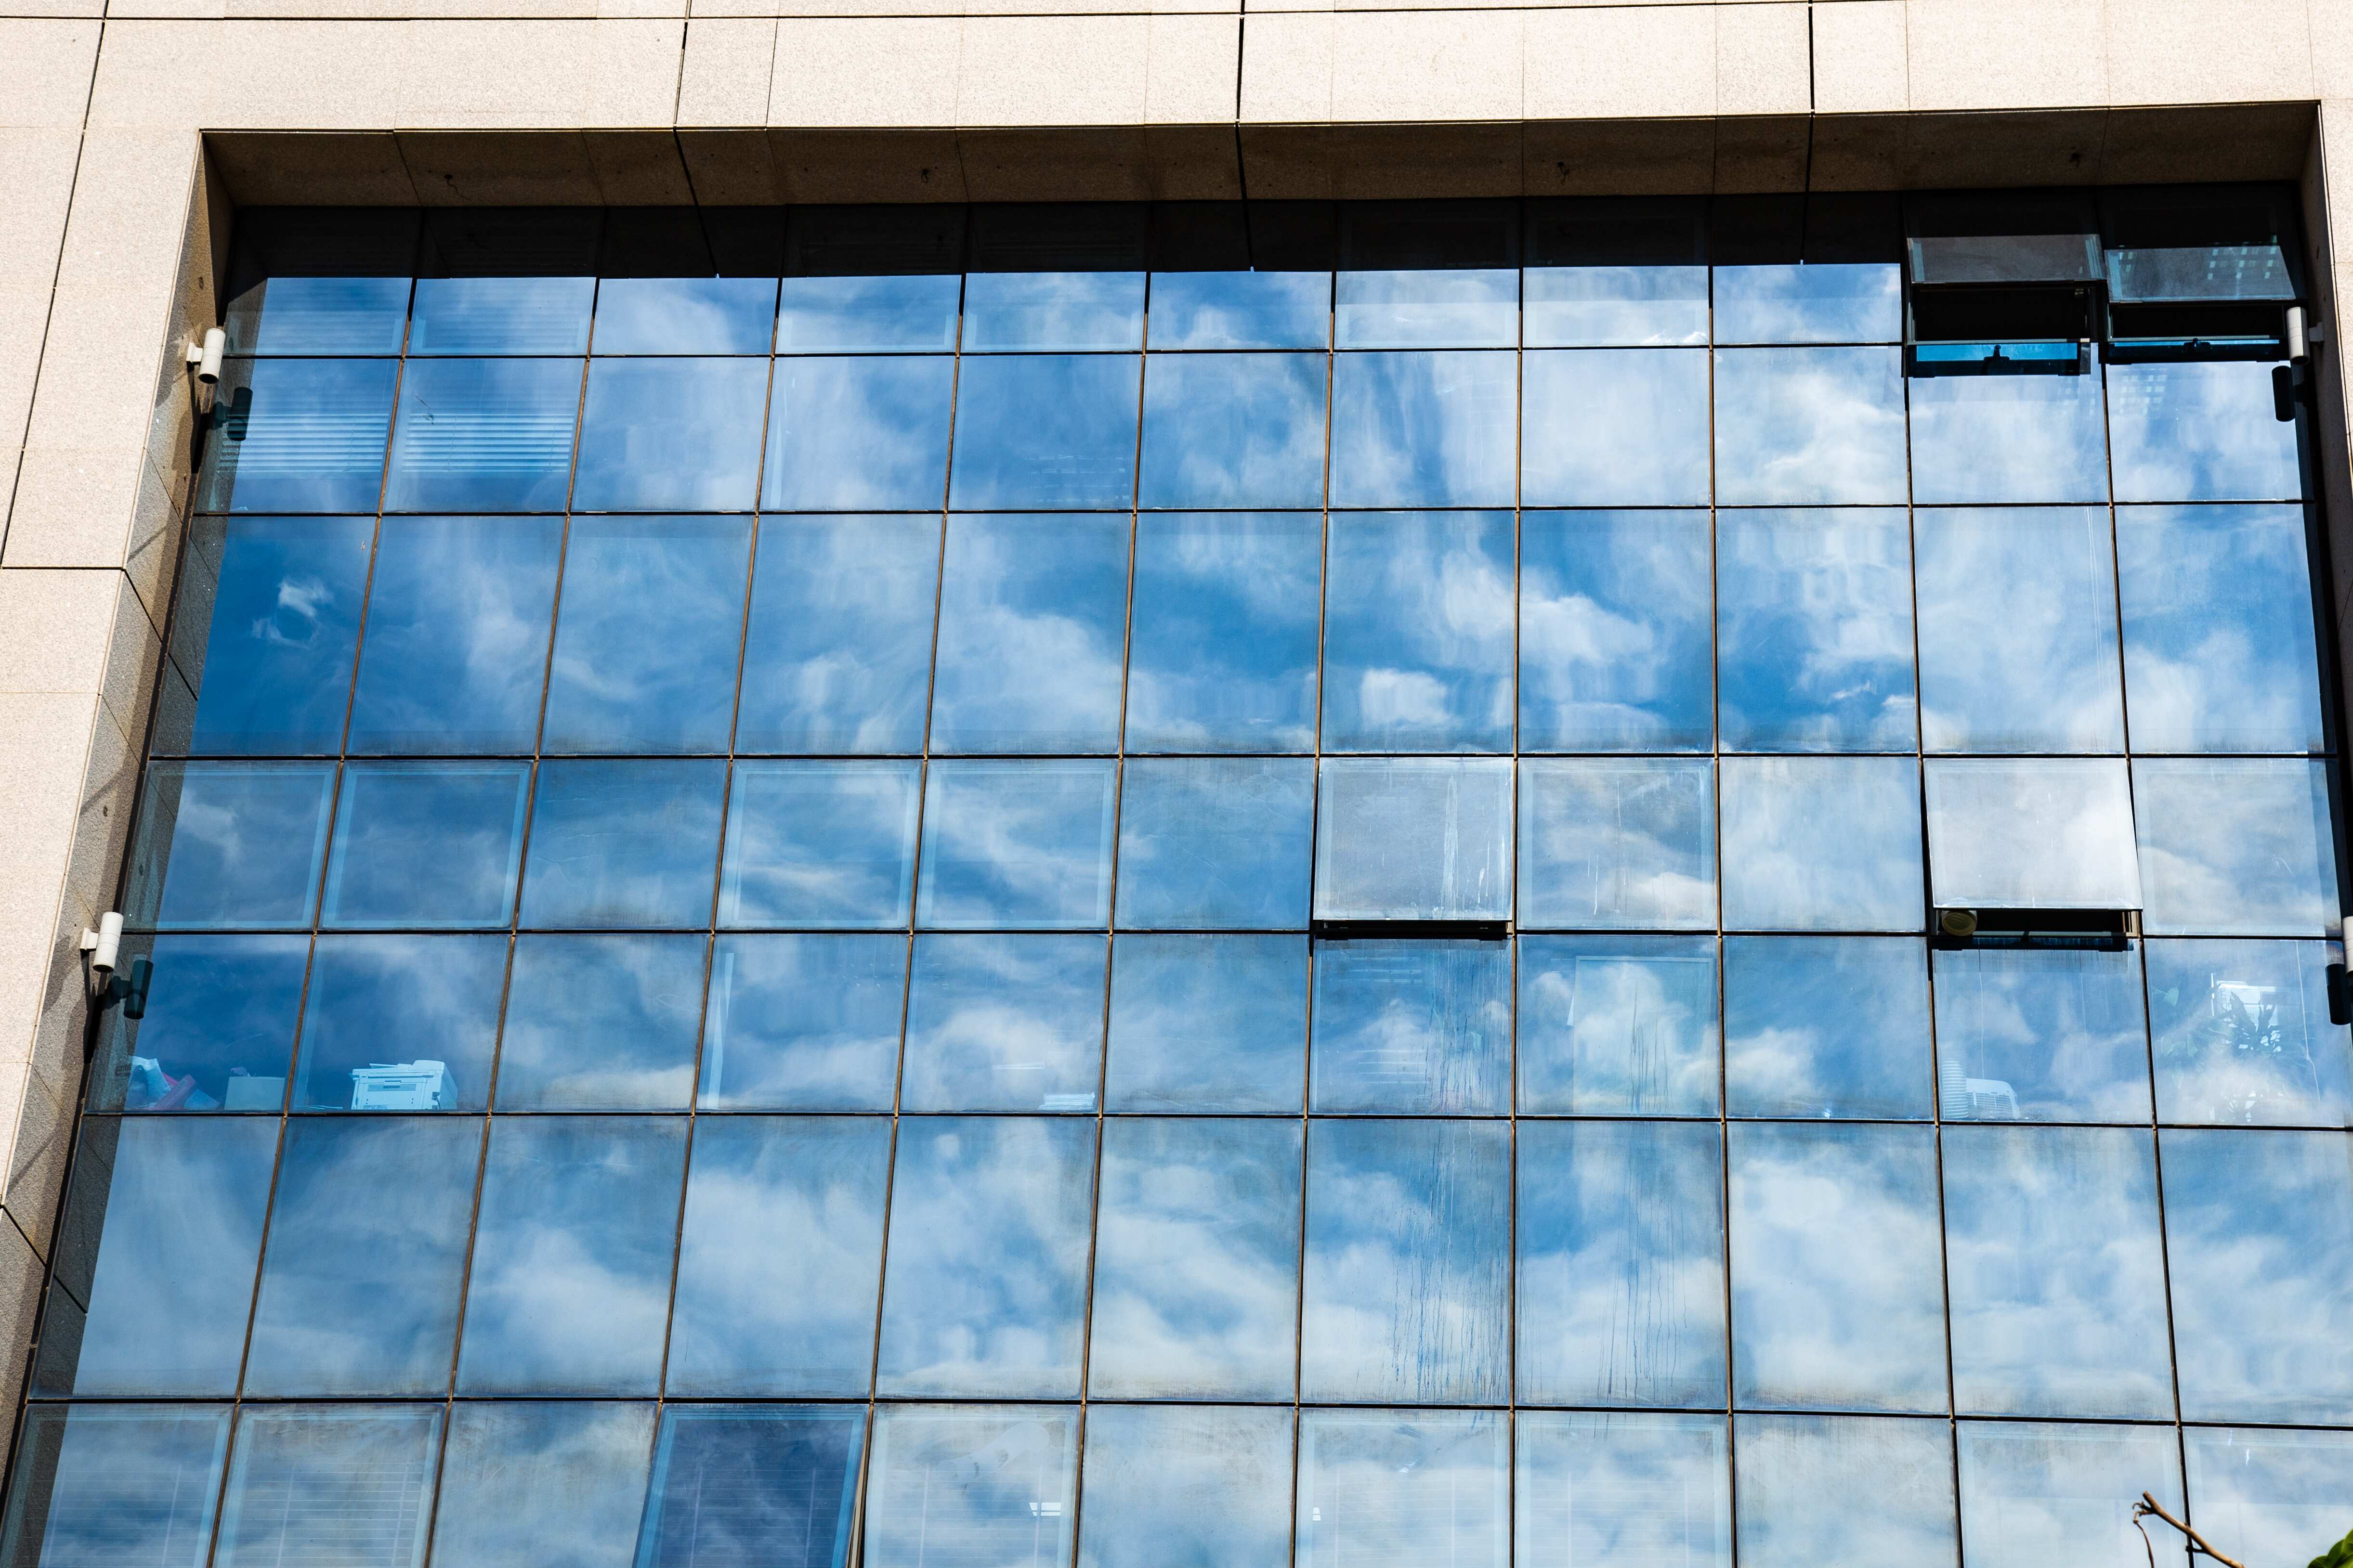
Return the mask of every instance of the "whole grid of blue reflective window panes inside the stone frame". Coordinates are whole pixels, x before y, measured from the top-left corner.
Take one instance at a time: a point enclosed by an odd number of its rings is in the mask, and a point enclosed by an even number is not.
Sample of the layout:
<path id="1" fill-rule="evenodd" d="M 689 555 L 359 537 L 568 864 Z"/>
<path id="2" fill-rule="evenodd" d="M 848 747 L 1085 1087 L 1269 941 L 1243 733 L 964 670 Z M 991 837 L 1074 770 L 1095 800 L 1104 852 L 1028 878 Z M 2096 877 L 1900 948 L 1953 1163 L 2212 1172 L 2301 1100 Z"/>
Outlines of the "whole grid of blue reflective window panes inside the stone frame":
<path id="1" fill-rule="evenodd" d="M 2318 1552 L 2297 428 L 1899 223 L 245 214 L 0 1556 Z"/>

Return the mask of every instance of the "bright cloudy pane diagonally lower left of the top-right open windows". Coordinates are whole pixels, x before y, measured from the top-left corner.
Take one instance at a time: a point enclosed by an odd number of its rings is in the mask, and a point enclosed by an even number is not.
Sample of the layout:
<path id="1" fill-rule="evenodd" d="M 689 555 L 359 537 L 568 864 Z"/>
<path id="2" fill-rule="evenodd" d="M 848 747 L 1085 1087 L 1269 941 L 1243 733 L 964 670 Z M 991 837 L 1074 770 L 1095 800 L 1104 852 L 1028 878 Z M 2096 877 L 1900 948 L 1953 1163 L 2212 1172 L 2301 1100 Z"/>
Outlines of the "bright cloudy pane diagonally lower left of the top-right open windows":
<path id="1" fill-rule="evenodd" d="M 1901 505 L 1901 357 L 1894 348 L 1718 350 L 1715 501 Z"/>

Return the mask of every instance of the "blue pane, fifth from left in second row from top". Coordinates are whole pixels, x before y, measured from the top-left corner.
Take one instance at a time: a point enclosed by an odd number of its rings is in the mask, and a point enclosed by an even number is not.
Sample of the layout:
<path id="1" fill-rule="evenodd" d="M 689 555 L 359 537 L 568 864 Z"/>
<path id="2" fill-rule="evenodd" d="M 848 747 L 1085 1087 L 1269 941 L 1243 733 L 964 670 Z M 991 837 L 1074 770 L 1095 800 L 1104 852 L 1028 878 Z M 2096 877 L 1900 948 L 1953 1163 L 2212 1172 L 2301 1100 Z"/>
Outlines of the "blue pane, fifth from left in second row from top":
<path id="1" fill-rule="evenodd" d="M 1136 496 L 1136 355 L 962 362 L 948 503 L 1106 508 Z"/>

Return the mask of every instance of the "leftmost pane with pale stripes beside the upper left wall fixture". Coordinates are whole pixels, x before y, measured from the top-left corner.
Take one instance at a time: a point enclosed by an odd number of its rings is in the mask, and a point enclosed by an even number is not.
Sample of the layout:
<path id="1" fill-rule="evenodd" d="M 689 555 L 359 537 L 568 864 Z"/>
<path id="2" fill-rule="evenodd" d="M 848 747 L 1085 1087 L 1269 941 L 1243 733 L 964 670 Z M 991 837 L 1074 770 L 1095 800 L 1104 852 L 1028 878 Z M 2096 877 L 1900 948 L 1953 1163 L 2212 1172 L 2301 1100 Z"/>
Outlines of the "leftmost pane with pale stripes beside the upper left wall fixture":
<path id="1" fill-rule="evenodd" d="M 231 360 L 195 510 L 374 512 L 398 376 L 395 360 Z"/>

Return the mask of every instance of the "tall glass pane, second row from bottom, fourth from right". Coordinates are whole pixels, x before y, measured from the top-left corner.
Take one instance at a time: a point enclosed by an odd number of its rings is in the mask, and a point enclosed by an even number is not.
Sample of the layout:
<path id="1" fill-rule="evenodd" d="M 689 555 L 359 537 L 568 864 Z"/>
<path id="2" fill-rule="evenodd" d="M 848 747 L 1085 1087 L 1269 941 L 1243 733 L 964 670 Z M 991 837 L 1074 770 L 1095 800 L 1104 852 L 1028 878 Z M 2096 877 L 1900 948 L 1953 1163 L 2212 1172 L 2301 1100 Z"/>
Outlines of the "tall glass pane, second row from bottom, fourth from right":
<path id="1" fill-rule="evenodd" d="M 1692 1121 L 1520 1128 L 1520 1403 L 1722 1403 L 1722 1157 Z"/>

